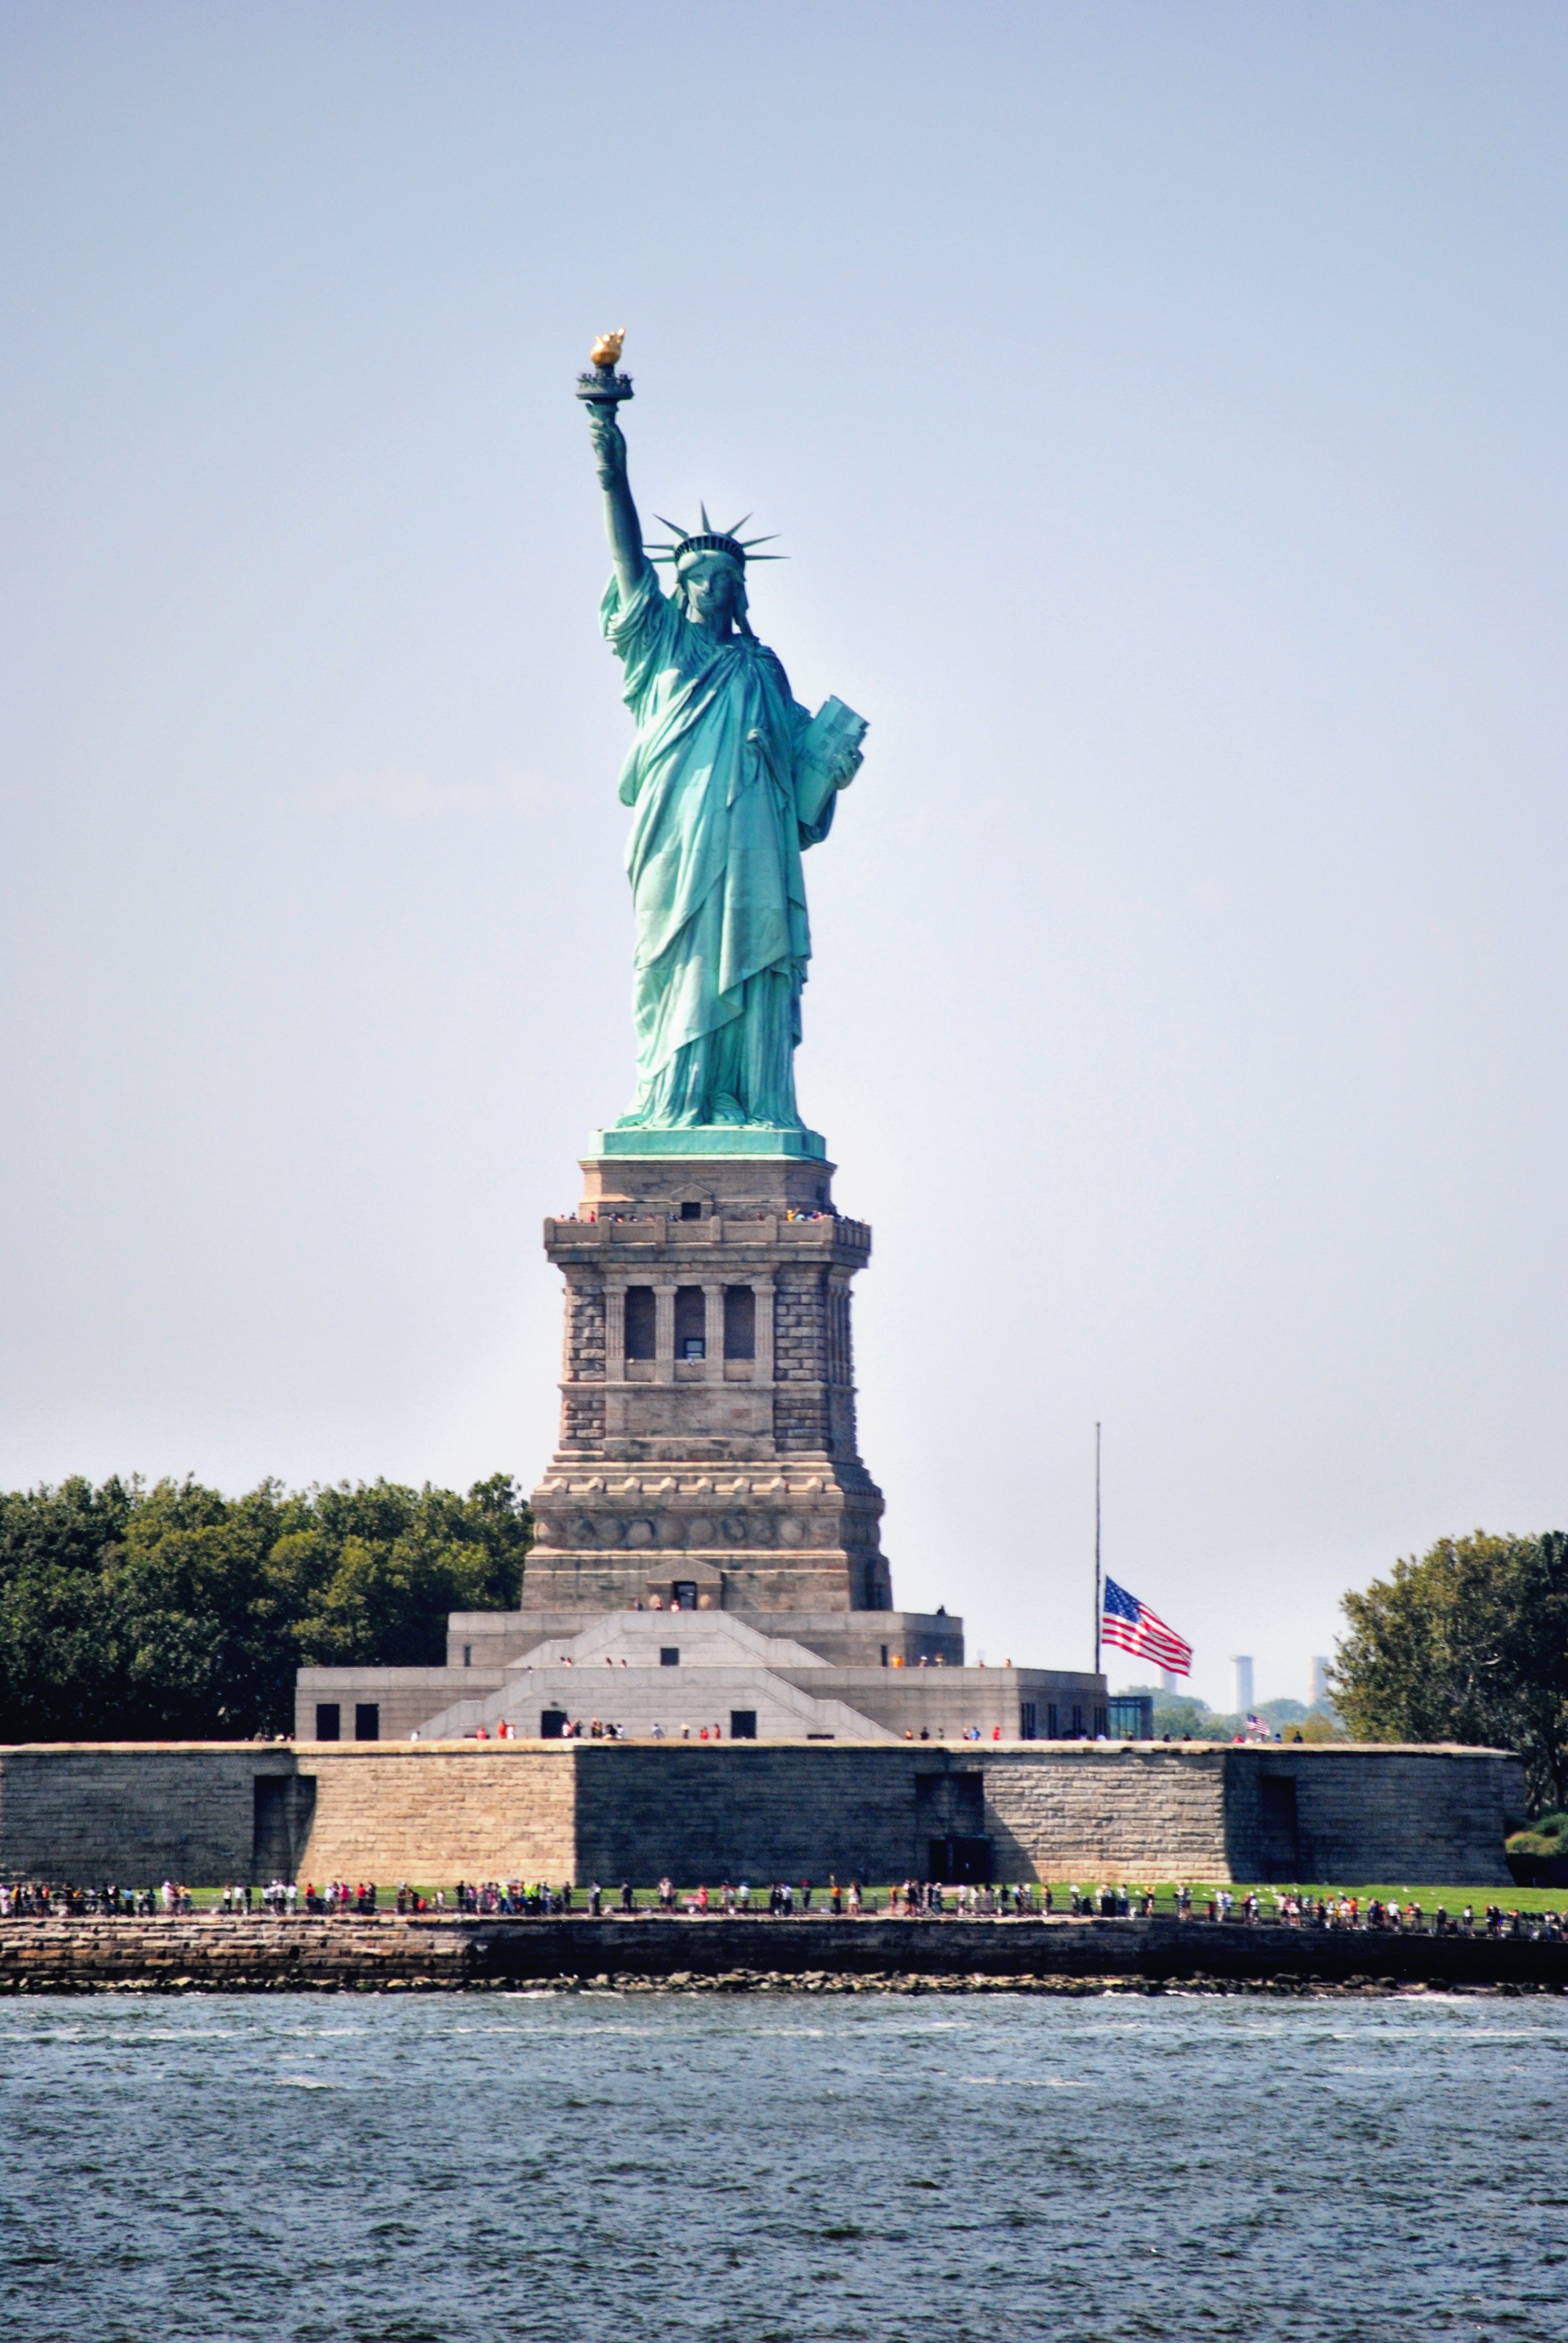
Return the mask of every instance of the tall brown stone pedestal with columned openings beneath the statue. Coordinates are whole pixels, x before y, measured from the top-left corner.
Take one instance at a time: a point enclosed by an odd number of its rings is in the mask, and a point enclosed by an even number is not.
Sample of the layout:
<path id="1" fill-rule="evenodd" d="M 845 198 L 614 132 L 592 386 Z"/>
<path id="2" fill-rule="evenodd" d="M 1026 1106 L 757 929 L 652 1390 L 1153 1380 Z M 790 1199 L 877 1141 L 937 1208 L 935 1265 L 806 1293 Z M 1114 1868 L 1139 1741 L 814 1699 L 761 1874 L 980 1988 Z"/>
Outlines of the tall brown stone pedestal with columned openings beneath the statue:
<path id="1" fill-rule="evenodd" d="M 656 1134 L 687 1155 L 630 1153 L 640 1136 L 605 1134 L 577 1218 L 544 1223 L 567 1326 L 523 1605 L 891 1610 L 848 1331 L 870 1228 L 785 1134 L 773 1153 L 750 1153 L 755 1132 L 713 1153 Z"/>

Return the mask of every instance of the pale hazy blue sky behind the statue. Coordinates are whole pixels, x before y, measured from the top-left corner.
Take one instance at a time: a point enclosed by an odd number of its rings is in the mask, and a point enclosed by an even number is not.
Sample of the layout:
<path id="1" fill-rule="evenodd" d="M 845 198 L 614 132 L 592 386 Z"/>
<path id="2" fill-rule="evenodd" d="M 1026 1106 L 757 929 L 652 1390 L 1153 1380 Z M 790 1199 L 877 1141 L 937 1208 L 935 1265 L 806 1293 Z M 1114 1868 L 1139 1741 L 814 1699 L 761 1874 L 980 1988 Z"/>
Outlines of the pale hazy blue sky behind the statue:
<path id="1" fill-rule="evenodd" d="M 1085 1666 L 1097 1418 L 1216 1701 L 1568 1525 L 1566 122 L 1512 0 L 0 5 L 0 1483 L 548 1460 L 626 323 L 645 513 L 872 719 L 895 1600 Z"/>

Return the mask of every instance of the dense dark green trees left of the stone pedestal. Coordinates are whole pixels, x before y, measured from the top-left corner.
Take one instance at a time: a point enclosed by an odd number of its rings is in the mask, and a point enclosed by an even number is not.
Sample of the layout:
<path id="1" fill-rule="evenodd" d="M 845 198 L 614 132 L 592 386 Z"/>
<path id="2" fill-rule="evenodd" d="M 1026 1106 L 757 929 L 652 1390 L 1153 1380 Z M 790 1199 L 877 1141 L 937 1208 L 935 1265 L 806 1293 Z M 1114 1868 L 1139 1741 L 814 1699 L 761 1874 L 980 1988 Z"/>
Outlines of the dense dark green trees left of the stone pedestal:
<path id="1" fill-rule="evenodd" d="M 373 1481 L 225 1497 L 197 1481 L 0 1492 L 0 1739 L 286 1731 L 295 1668 L 445 1659 L 450 1610 L 509 1610 L 532 1521 Z"/>

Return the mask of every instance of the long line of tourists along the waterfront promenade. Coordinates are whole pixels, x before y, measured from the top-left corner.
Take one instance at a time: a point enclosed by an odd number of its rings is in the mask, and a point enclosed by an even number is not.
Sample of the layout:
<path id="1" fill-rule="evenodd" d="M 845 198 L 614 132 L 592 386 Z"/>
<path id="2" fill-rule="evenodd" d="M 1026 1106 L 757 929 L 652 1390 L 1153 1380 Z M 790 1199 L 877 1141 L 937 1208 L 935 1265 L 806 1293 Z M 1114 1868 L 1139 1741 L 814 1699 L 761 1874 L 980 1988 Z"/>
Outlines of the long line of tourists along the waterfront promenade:
<path id="1" fill-rule="evenodd" d="M 1378 1898 L 1371 1895 L 1362 1900 L 1350 1893 L 1324 1893 L 1308 1895 L 1296 1888 L 1247 1888 L 1235 1893 L 1233 1888 L 1193 1888 L 1191 1881 L 1181 1881 L 1170 1891 L 1174 1914 L 1181 1921 L 1209 1921 L 1216 1926 L 1245 1926 L 1256 1928 L 1261 1924 L 1273 1924 L 1282 1928 L 1322 1928 L 1322 1931 L 1390 1931 L 1399 1935 L 1465 1935 L 1465 1938 L 1530 1938 L 1535 1942 L 1563 1942 L 1568 1935 L 1568 1914 L 1561 1912 L 1519 1912 L 1505 1910 L 1505 1905 L 1484 1905 L 1477 1914 L 1474 1905 L 1463 1905 L 1458 1912 L 1448 1912 L 1446 1905 L 1437 1905 L 1430 1914 L 1423 1910 L 1418 1898 Z M 694 1891 L 680 1893 L 673 1879 L 666 1874 L 652 1898 L 652 1910 L 663 1917 L 687 1917 L 687 1919 L 795 1919 L 795 1917 L 830 1917 L 830 1919 L 860 1919 L 870 1914 L 886 1914 L 898 1919 L 1151 1919 L 1155 1912 L 1158 1891 L 1153 1886 L 1134 1886 L 1130 1881 L 1102 1884 L 1095 1888 L 1083 1888 L 1071 1881 L 1066 1898 L 1059 1905 L 1057 1891 L 1038 1881 L 1020 1881 L 1013 1886 L 947 1886 L 930 1879 L 902 1879 L 879 1895 L 858 1879 L 841 1884 L 837 1877 L 827 1886 L 813 1886 L 811 1879 L 792 1881 L 780 1879 L 766 1888 L 755 1888 L 748 1879 L 731 1884 L 720 1881 L 717 1888 L 698 1886 Z M 1266 1910 L 1266 1900 L 1270 1910 Z M 502 1917 L 502 1919 L 553 1919 L 565 1914 L 586 1914 L 588 1919 L 605 1919 L 612 1914 L 638 1917 L 647 1914 L 649 1905 L 638 1903 L 638 1891 L 628 1879 L 619 1886 L 605 1888 L 598 1879 L 588 1886 L 574 1886 L 565 1881 L 563 1886 L 548 1886 L 541 1879 L 483 1879 L 464 1881 L 448 1893 L 448 1888 L 431 1888 L 429 1893 L 410 1886 L 405 1879 L 398 1881 L 394 1907 L 403 1917 L 431 1914 L 431 1917 Z M 373 1919 L 384 1907 L 380 1903 L 380 1891 L 373 1881 L 347 1881 L 330 1879 L 323 1886 L 305 1881 L 302 1886 L 293 1879 L 272 1879 L 267 1886 L 230 1884 L 223 1886 L 211 1905 L 197 1907 L 195 1893 L 173 1879 L 164 1879 L 155 1888 L 127 1888 L 117 1884 L 105 1886 L 75 1886 L 42 1879 L 14 1879 L 0 1881 L 0 1921 L 2 1919 L 152 1919 L 197 1914 L 213 1919 L 246 1919 L 263 1917 L 288 1921 L 300 1914 L 314 1919 Z"/>

